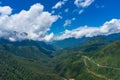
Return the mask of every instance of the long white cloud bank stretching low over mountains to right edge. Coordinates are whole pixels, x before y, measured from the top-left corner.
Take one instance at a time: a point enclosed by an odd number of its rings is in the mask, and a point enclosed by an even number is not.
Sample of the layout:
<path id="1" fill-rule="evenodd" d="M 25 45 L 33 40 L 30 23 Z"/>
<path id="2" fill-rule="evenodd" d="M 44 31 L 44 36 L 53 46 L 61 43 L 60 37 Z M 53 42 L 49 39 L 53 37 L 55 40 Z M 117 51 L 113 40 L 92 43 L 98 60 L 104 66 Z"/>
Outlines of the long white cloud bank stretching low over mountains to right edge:
<path id="1" fill-rule="evenodd" d="M 81 26 L 73 30 L 65 30 L 62 35 L 56 36 L 55 40 L 63 40 L 66 38 L 82 38 L 93 37 L 98 35 L 110 35 L 113 33 L 120 33 L 120 19 L 112 19 L 105 22 L 100 27 Z"/>

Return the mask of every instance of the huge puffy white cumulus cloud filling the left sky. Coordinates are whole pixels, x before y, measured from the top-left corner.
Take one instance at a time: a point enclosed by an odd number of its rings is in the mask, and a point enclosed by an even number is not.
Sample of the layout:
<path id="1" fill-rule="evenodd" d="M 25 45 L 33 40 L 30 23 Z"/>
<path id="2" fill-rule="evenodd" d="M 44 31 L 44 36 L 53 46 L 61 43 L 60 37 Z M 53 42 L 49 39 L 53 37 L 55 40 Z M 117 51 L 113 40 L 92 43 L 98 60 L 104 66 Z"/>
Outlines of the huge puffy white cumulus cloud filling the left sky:
<path id="1" fill-rule="evenodd" d="M 37 3 L 28 11 L 11 13 L 11 7 L 0 7 L 0 37 L 11 41 L 23 39 L 49 41 L 52 39 L 54 34 L 47 34 L 47 32 L 59 16 L 44 11 L 43 5 Z"/>

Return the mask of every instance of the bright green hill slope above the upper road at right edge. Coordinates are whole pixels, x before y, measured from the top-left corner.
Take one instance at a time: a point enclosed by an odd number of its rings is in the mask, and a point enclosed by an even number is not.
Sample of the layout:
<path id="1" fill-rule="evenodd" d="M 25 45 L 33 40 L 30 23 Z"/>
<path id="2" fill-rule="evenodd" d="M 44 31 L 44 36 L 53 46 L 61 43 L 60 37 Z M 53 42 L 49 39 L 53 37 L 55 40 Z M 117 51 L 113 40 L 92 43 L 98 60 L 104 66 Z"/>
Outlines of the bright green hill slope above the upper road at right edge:
<path id="1" fill-rule="evenodd" d="M 93 56 L 100 64 L 112 67 L 120 67 L 120 40 L 104 47 Z"/>

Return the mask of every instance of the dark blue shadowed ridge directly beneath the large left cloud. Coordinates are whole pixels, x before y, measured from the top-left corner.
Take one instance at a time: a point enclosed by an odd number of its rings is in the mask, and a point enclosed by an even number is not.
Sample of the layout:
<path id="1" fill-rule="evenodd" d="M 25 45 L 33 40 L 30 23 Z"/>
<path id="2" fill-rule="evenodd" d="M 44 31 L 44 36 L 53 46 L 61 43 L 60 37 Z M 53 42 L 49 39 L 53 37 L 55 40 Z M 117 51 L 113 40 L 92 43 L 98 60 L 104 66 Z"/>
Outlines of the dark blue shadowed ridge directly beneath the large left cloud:
<path id="1" fill-rule="evenodd" d="M 52 45 L 49 45 L 42 41 L 33 41 L 33 40 L 23 40 L 23 41 L 16 41 L 16 42 L 10 42 L 6 39 L 0 39 L 1 45 L 12 45 L 14 47 L 19 46 L 35 46 L 37 47 L 42 53 L 46 54 L 47 56 L 51 56 L 51 53 L 55 50 L 55 48 Z"/>

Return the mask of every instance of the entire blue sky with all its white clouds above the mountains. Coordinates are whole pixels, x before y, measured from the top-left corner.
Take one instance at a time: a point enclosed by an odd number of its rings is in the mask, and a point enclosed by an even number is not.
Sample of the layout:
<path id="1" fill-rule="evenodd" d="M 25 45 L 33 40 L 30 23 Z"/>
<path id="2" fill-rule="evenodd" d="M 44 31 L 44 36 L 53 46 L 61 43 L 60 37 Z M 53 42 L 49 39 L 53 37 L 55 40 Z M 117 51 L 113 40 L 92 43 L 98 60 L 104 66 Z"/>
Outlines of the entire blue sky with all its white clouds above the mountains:
<path id="1" fill-rule="evenodd" d="M 120 32 L 120 0 L 0 0 L 0 38 L 39 41 Z"/>

